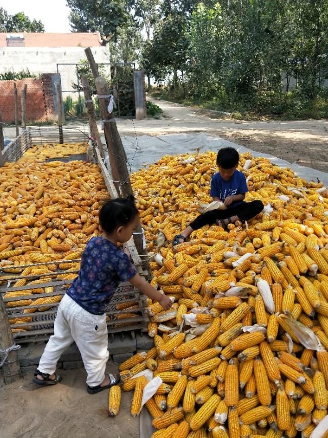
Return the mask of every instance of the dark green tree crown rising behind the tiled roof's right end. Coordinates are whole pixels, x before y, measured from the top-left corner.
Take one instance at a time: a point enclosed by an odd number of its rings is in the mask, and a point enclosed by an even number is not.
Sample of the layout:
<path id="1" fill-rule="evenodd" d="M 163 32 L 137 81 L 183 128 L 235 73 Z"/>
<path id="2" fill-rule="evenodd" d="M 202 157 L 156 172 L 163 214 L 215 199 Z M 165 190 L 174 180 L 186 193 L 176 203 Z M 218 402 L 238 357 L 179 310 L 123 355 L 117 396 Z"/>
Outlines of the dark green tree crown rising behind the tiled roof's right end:
<path id="1" fill-rule="evenodd" d="M 69 19 L 73 32 L 96 32 L 104 46 L 116 41 L 128 19 L 120 0 L 67 0 L 71 9 Z"/>

